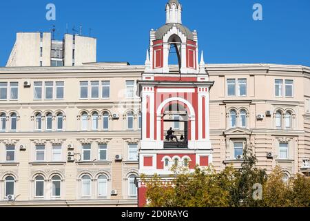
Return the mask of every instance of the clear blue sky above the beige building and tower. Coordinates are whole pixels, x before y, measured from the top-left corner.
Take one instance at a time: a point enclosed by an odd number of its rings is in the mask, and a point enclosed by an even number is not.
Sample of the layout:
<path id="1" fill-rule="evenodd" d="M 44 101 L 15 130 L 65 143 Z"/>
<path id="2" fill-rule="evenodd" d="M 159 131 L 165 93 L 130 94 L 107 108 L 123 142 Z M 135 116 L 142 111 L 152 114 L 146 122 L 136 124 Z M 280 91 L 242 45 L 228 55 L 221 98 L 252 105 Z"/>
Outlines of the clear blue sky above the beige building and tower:
<path id="1" fill-rule="evenodd" d="M 5 66 L 16 32 L 50 31 L 57 39 L 73 26 L 97 38 L 97 61 L 144 64 L 149 30 L 165 23 L 167 0 L 28 0 L 0 3 L 0 66 Z M 180 0 L 183 24 L 198 31 L 209 64 L 271 63 L 310 66 L 309 0 Z M 56 5 L 56 21 L 45 6 Z M 260 3 L 263 20 L 254 21 Z"/>

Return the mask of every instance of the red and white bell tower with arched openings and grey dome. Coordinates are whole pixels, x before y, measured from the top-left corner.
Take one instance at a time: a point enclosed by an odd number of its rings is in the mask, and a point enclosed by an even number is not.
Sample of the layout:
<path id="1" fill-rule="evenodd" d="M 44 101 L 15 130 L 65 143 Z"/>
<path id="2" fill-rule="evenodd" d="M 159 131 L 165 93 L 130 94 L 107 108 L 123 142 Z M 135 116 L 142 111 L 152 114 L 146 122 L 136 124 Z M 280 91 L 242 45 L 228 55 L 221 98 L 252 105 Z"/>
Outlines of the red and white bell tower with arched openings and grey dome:
<path id="1" fill-rule="evenodd" d="M 176 65 L 169 65 L 172 48 Z M 209 166 L 209 90 L 213 84 L 203 52 L 198 63 L 197 32 L 183 26 L 178 0 L 169 0 L 165 25 L 150 32 L 145 72 L 138 81 L 143 113 L 140 175 L 157 173 L 163 182 L 169 182 L 173 165 Z M 167 135 L 169 128 L 174 137 Z M 145 206 L 145 192 L 145 183 L 138 179 L 138 206 Z"/>

